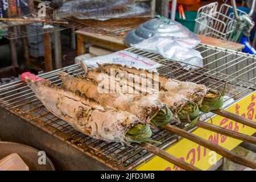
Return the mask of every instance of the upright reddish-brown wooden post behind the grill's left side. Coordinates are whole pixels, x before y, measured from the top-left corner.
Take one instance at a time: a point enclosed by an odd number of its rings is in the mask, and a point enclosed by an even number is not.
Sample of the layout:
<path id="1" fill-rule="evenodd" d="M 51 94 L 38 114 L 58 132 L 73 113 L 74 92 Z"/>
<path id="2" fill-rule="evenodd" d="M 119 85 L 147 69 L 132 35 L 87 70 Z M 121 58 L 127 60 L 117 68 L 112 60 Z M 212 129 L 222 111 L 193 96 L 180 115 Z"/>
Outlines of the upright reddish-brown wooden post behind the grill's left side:
<path id="1" fill-rule="evenodd" d="M 44 63 L 46 71 L 52 71 L 51 33 L 44 34 Z"/>

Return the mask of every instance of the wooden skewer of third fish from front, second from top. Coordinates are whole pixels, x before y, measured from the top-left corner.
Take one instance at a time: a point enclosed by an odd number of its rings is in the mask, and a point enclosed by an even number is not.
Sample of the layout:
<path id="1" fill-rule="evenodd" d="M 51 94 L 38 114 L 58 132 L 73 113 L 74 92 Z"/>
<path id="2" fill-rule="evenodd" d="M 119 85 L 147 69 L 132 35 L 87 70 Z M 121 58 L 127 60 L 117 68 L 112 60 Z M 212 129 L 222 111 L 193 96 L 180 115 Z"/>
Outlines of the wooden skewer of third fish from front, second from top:
<path id="1" fill-rule="evenodd" d="M 187 120 L 184 120 L 184 119 L 182 120 L 182 122 L 189 123 Z M 250 135 L 245 135 L 245 134 L 242 134 L 242 133 L 238 133 L 236 131 L 224 129 L 223 127 L 216 126 L 216 125 L 213 125 L 211 123 L 198 121 L 196 123 L 196 126 L 201 127 L 203 129 L 206 129 L 206 130 L 214 131 L 216 133 L 220 133 L 222 135 L 226 135 L 228 137 L 232 137 L 232 138 L 235 138 L 235 139 L 238 139 L 238 140 L 242 140 L 242 141 L 245 141 L 245 142 L 250 142 L 250 143 L 256 144 L 256 137 L 253 137 L 253 136 L 250 136 Z"/>

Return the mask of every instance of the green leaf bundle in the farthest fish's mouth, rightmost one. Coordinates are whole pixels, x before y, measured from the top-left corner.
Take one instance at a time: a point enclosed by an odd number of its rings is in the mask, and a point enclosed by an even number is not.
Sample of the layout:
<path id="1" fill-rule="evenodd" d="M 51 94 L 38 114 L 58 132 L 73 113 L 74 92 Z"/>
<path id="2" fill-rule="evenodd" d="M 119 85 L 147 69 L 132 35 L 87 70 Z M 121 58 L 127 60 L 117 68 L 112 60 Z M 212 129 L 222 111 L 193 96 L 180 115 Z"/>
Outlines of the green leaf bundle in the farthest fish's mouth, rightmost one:
<path id="1" fill-rule="evenodd" d="M 200 110 L 209 113 L 211 110 L 220 109 L 223 106 L 223 96 L 217 90 L 210 89 L 202 101 Z"/>

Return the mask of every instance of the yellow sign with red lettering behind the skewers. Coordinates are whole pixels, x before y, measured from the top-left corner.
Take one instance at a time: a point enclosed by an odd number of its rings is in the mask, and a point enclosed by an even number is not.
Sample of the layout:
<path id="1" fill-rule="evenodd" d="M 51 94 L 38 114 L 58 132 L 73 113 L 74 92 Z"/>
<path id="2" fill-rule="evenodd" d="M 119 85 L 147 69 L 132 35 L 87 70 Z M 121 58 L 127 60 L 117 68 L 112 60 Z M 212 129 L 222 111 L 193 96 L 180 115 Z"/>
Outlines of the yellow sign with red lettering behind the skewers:
<path id="1" fill-rule="evenodd" d="M 232 105 L 226 110 L 256 121 L 255 102 L 256 92 L 251 93 L 249 96 L 241 101 L 238 101 L 236 104 Z M 212 118 L 212 120 L 209 120 L 208 122 L 212 122 L 214 125 L 221 126 L 233 131 L 238 131 L 239 133 L 247 135 L 252 135 L 256 132 L 255 129 L 249 126 L 234 122 L 230 119 L 221 117 L 220 115 L 216 115 L 216 117 Z M 208 139 L 222 147 L 225 147 L 228 150 L 233 150 L 234 147 L 238 146 L 238 144 L 242 142 L 241 140 L 226 137 L 225 135 L 214 133 L 212 131 L 201 128 L 197 128 L 192 133 L 201 138 Z M 222 158 L 221 155 L 216 155 L 213 151 L 210 151 L 207 148 L 184 138 L 168 148 L 166 151 L 202 170 L 207 170 L 214 164 L 214 157 L 217 159 L 217 161 Z M 137 170 L 180 171 L 181 168 L 170 162 L 167 162 L 162 158 L 159 158 L 158 156 L 155 156 L 150 161 L 139 166 Z"/>

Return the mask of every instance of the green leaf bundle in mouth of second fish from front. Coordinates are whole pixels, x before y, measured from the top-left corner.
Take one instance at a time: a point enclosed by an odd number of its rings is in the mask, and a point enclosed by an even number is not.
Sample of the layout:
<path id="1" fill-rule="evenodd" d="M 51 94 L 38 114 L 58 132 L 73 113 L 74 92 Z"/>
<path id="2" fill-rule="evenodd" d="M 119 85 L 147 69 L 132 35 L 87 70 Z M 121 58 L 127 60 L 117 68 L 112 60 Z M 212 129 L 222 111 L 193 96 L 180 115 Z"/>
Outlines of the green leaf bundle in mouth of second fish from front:
<path id="1" fill-rule="evenodd" d="M 167 106 L 164 106 L 158 111 L 158 114 L 151 119 L 151 122 L 154 126 L 160 127 L 170 123 L 173 117 L 174 115 L 172 114 L 172 111 Z"/>

